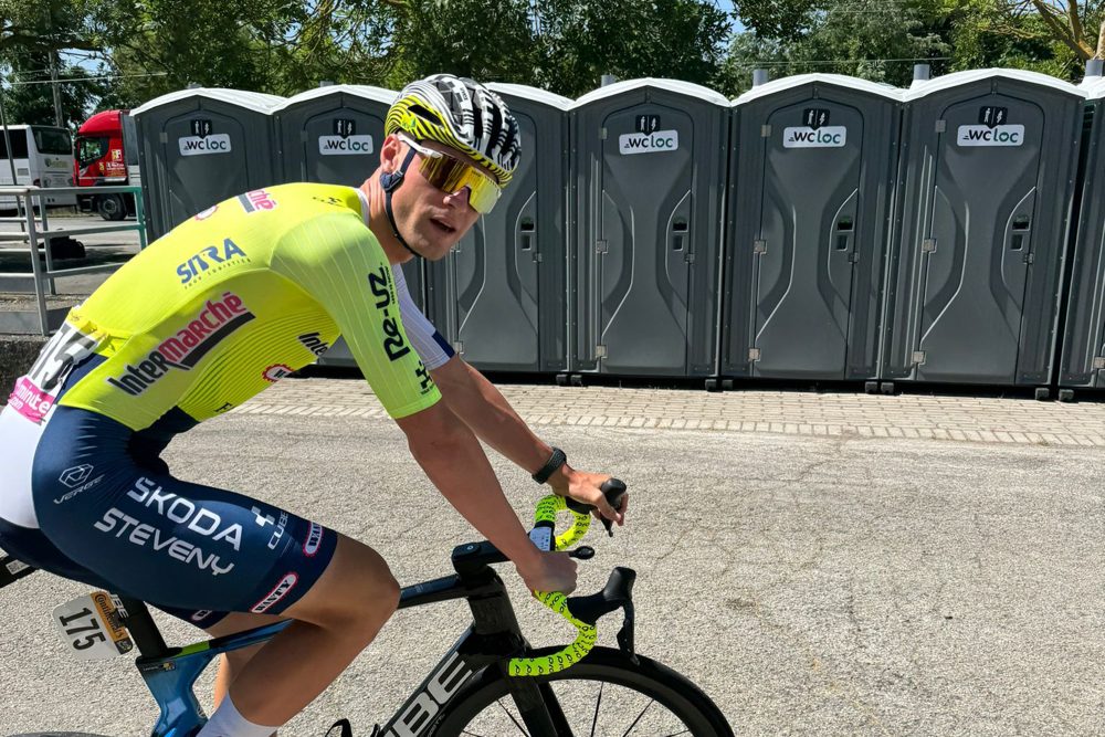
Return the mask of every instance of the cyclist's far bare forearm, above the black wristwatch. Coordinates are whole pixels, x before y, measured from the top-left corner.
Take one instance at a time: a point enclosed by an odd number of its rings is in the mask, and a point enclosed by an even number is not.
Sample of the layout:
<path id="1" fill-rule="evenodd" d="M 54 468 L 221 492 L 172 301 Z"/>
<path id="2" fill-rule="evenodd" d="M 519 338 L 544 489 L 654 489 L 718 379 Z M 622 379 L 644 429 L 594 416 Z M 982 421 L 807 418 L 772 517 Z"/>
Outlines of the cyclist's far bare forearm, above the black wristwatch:
<path id="1" fill-rule="evenodd" d="M 454 358 L 438 369 L 433 379 L 449 409 L 504 457 L 529 473 L 548 461 L 552 449 L 529 429 L 483 373 Z"/>

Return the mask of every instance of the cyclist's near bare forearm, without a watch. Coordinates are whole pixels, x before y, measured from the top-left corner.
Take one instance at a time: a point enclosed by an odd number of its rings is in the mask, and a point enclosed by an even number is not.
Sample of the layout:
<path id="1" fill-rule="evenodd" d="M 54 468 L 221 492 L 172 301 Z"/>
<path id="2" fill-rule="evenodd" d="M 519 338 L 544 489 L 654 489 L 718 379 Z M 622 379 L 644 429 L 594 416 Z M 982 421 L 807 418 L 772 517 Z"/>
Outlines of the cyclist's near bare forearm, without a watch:
<path id="1" fill-rule="evenodd" d="M 433 485 L 465 519 L 519 568 L 538 557 L 475 436 L 457 430 L 411 438 L 410 450 Z"/>

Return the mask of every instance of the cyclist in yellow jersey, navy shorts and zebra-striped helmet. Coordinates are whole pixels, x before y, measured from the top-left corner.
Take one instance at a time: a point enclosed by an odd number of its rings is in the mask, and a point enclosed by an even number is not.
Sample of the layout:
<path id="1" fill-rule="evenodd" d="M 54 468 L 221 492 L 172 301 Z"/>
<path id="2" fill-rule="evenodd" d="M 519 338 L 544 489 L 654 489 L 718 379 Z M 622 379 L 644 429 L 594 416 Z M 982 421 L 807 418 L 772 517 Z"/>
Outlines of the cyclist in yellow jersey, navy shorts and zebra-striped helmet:
<path id="1" fill-rule="evenodd" d="M 370 547 L 263 501 L 192 484 L 171 438 L 316 358 L 340 334 L 414 459 L 530 589 L 576 565 L 538 551 L 480 440 L 597 506 L 572 470 L 413 306 L 399 264 L 449 253 L 519 157 L 503 102 L 465 78 L 407 86 L 359 188 L 286 185 L 197 214 L 67 315 L 0 413 L 0 547 L 146 600 L 213 635 L 294 623 L 223 662 L 200 737 L 267 737 L 375 638 L 399 586 Z M 229 695 L 222 694 L 229 687 Z"/>

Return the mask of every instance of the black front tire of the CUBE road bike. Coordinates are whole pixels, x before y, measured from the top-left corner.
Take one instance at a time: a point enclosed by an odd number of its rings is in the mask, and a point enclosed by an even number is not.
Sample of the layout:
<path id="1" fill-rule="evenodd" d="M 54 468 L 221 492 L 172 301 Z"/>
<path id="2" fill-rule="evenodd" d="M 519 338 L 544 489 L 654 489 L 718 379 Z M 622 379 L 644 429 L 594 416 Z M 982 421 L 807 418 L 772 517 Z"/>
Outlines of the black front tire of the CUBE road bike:
<path id="1" fill-rule="evenodd" d="M 552 650 L 555 649 L 549 649 L 548 652 Z M 541 655 L 547 654 L 547 652 L 536 651 L 535 654 Z M 630 656 L 620 650 L 594 647 L 586 659 L 566 671 L 547 676 L 525 677 L 532 677 L 541 684 L 549 684 L 550 686 L 551 684 L 562 682 L 587 681 L 625 688 L 636 692 L 642 698 L 652 699 L 652 702 L 660 704 L 670 714 L 680 719 L 685 729 L 671 734 L 691 735 L 693 737 L 733 737 L 733 728 L 725 719 L 722 710 L 686 676 L 648 657 L 638 656 L 638 661 L 634 664 Z M 499 704 L 503 699 L 511 703 L 508 692 L 511 677 L 504 675 L 502 670 L 494 665 L 483 668 L 445 706 L 431 734 L 434 737 L 462 737 L 484 734 L 482 731 L 467 731 L 466 728 L 472 725 L 473 719 L 478 718 L 482 714 L 486 714 L 488 708 L 494 710 L 496 704 Z M 649 706 L 646 705 L 645 709 Z M 589 708 L 590 706 L 588 706 Z M 597 703 L 596 719 L 598 719 L 598 715 L 599 705 Z M 628 718 L 632 719 L 632 714 Z M 592 734 L 598 734 L 593 733 L 593 726 L 591 730 Z M 496 734 L 496 737 L 501 737 L 501 734 L 505 733 L 496 731 L 494 734 Z M 524 735 L 528 733 L 519 727 L 518 734 Z M 577 733 L 577 735 L 579 734 Z M 585 731 L 582 734 L 588 733 Z M 618 734 L 648 734 L 655 737 L 656 733 L 638 733 L 632 729 L 622 733 L 619 728 Z"/>

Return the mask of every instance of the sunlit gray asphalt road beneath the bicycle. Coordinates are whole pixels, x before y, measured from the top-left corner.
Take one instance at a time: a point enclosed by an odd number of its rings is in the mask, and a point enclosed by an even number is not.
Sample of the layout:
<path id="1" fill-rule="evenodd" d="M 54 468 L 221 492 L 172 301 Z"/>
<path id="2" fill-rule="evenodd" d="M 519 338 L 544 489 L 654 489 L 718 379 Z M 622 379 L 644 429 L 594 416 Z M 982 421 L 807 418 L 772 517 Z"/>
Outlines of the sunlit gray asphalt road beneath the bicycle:
<path id="1" fill-rule="evenodd" d="M 572 462 L 623 477 L 627 527 L 594 536 L 581 590 L 640 573 L 638 646 L 691 676 L 740 735 L 1098 735 L 1105 554 L 1096 448 L 547 427 Z M 178 475 L 273 499 L 370 543 L 402 583 L 474 537 L 370 418 L 232 414 L 170 446 Z M 496 462 L 516 508 L 537 488 Z M 538 644 L 570 632 L 507 576 Z M 83 587 L 0 591 L 0 734 L 145 735 L 131 663 L 80 663 L 49 619 Z M 170 642 L 196 631 L 169 618 Z M 462 604 L 400 612 L 284 730 L 338 716 L 370 734 L 465 627 Z M 600 628 L 613 643 L 615 625 Z M 210 674 L 200 684 L 209 697 Z"/>

